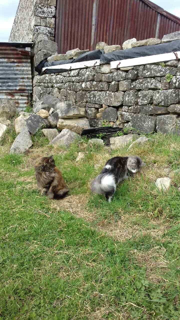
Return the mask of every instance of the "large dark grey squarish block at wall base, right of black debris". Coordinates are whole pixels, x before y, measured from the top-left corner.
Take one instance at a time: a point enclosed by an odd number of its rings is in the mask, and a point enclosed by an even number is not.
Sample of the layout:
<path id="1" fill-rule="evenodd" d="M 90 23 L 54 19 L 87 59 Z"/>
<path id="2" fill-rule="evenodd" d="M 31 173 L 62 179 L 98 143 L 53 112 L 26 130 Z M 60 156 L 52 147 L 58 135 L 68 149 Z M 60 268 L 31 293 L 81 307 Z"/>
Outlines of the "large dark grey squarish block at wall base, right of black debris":
<path id="1" fill-rule="evenodd" d="M 156 130 L 156 117 L 135 113 L 132 118 L 133 132 L 150 133 Z"/>

